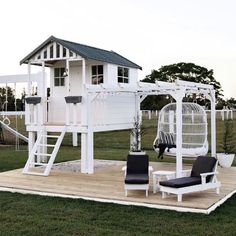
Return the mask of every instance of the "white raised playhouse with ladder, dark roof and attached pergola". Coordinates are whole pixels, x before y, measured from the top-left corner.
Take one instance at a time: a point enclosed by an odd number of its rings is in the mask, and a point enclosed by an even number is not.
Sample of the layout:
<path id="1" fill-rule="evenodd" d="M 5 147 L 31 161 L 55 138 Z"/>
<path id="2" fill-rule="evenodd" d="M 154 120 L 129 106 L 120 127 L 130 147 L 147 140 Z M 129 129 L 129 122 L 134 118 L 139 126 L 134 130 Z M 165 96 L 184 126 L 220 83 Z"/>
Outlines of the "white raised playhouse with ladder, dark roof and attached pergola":
<path id="1" fill-rule="evenodd" d="M 212 156 L 216 154 L 215 91 L 211 85 L 179 80 L 175 83 L 141 83 L 138 81 L 141 67 L 123 56 L 53 36 L 22 59 L 20 64 L 23 63 L 28 64 L 29 74 L 26 99 L 29 157 L 23 170 L 25 174 L 49 175 L 66 132 L 73 134 L 74 145 L 77 144 L 77 133 L 81 133 L 81 172 L 93 173 L 94 132 L 132 128 L 134 118 L 140 115 L 140 103 L 148 95 L 168 94 L 176 101 L 170 119 L 175 125 L 167 125 L 174 133 L 177 177 L 182 173 L 183 135 L 186 135 L 182 132 L 185 95 L 201 94 L 210 100 L 211 152 Z M 35 65 L 42 68 L 42 78 L 37 95 L 33 96 L 31 66 Z M 49 97 L 46 67 L 50 68 Z M 190 115 L 192 117 L 193 113 Z M 191 119 L 196 120 L 196 115 Z M 206 128 L 204 124 L 204 130 Z M 206 134 L 201 143 L 206 146 L 205 137 Z M 42 168 L 35 169 L 37 166 Z"/>

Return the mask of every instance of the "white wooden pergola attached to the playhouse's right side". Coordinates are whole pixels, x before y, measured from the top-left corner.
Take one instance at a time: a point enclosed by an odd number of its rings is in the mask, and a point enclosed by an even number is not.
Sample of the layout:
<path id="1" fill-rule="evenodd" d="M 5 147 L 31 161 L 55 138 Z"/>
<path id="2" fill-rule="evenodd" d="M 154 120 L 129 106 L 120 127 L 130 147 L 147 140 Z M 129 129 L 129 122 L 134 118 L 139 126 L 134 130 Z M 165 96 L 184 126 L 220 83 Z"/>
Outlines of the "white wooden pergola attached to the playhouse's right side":
<path id="1" fill-rule="evenodd" d="M 88 97 L 95 98 L 98 93 L 134 93 L 136 96 L 135 108 L 140 112 L 140 103 L 148 95 L 170 95 L 176 101 L 176 174 L 182 176 L 182 103 L 183 98 L 190 94 L 202 94 L 211 102 L 211 155 L 216 156 L 216 115 L 215 115 L 215 90 L 212 85 L 176 80 L 174 83 L 139 82 L 136 86 L 128 84 L 111 87 L 106 85 L 86 85 Z M 93 161 L 89 162 L 88 169 L 93 170 Z"/>

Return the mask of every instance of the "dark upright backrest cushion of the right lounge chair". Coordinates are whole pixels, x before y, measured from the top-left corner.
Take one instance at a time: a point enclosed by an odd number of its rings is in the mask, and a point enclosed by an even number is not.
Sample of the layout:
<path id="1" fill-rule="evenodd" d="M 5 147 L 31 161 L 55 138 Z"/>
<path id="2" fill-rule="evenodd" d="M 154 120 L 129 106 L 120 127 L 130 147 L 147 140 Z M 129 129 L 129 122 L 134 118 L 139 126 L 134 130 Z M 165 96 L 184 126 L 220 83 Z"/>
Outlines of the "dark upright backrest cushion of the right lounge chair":
<path id="1" fill-rule="evenodd" d="M 216 158 L 199 156 L 196 161 L 193 163 L 191 177 L 200 177 L 200 174 L 212 172 L 216 164 Z M 206 182 L 209 182 L 211 176 L 207 176 Z"/>

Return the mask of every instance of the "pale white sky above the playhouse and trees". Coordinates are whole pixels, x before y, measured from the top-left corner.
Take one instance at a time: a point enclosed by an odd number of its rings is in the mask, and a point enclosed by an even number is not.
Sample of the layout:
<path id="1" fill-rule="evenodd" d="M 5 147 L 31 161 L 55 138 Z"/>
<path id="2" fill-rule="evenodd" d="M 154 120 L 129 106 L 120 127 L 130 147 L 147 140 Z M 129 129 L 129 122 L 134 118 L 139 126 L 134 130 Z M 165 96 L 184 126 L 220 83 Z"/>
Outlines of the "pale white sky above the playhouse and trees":
<path id="1" fill-rule="evenodd" d="M 7 0 L 0 11 L 0 75 L 27 73 L 20 60 L 54 35 L 118 52 L 139 79 L 178 62 L 213 69 L 236 98 L 235 0 Z"/>

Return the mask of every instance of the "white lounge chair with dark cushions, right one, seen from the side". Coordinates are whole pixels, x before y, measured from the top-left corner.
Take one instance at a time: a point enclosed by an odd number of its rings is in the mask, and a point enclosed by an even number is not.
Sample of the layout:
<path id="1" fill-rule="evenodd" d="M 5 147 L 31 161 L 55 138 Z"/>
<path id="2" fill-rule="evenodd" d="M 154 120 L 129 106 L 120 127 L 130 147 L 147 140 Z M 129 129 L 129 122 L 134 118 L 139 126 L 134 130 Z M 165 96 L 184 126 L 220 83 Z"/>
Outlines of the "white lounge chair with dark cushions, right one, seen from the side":
<path id="1" fill-rule="evenodd" d="M 173 193 L 178 196 L 178 202 L 182 201 L 184 193 L 192 193 L 207 189 L 216 189 L 219 194 L 220 182 L 216 175 L 218 161 L 214 157 L 199 156 L 192 167 L 192 170 L 184 171 L 189 173 L 188 177 L 181 177 L 160 182 L 160 191 L 162 197 L 165 193 Z"/>

